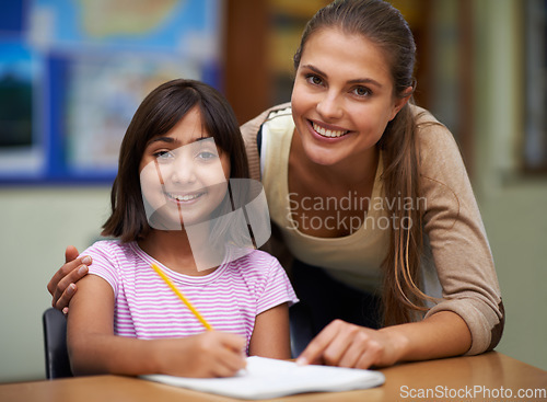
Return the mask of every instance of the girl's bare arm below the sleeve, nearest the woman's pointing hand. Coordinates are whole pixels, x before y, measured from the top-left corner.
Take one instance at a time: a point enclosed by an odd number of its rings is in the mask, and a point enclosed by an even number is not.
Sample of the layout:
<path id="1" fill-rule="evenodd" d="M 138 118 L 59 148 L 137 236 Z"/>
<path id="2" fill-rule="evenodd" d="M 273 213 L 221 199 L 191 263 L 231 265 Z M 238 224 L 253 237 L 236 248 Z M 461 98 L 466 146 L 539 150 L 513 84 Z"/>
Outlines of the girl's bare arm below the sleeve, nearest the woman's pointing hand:
<path id="1" fill-rule="evenodd" d="M 248 353 L 278 359 L 291 358 L 288 303 L 276 306 L 256 317 Z"/>

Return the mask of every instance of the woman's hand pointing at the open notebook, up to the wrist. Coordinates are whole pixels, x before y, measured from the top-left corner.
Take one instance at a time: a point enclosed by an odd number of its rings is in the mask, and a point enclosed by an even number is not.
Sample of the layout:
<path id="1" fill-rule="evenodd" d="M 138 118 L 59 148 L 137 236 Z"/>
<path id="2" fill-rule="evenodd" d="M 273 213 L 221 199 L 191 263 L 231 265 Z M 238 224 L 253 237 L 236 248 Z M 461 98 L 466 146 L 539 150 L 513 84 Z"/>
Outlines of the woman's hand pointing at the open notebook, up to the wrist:
<path id="1" fill-rule="evenodd" d="M 363 369 L 391 366 L 400 359 L 406 345 L 407 341 L 393 332 L 335 320 L 310 342 L 296 363 Z"/>

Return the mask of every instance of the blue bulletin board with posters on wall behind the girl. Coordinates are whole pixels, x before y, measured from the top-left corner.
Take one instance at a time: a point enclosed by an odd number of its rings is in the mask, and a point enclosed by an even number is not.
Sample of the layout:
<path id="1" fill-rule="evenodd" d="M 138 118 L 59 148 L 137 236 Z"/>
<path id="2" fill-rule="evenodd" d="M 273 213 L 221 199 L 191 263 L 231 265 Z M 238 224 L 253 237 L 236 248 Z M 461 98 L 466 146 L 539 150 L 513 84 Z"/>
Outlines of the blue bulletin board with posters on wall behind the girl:
<path id="1" fill-rule="evenodd" d="M 0 2 L 0 184 L 107 183 L 142 99 L 220 85 L 222 0 Z"/>

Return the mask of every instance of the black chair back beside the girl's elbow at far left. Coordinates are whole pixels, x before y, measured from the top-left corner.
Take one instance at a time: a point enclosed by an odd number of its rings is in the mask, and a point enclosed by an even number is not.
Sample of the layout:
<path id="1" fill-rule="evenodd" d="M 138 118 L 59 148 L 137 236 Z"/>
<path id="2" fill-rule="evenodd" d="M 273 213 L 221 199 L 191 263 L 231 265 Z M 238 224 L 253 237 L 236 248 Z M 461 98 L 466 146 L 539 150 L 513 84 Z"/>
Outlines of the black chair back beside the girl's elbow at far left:
<path id="1" fill-rule="evenodd" d="M 49 308 L 42 315 L 44 349 L 46 353 L 46 378 L 72 377 L 67 351 L 67 319 L 57 309 Z"/>

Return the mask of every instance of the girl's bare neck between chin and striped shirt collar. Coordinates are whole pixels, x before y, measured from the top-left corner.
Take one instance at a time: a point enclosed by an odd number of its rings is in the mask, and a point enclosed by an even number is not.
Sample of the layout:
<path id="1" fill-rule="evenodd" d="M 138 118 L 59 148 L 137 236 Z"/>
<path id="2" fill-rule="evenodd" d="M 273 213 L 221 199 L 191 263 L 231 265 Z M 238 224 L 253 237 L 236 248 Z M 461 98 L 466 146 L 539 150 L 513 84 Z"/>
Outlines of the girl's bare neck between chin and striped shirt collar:
<path id="1" fill-rule="evenodd" d="M 194 252 L 186 230 L 152 229 L 139 246 L 148 255 L 161 262 L 172 271 L 190 276 L 205 276 L 217 267 L 206 268 L 196 264 Z"/>

